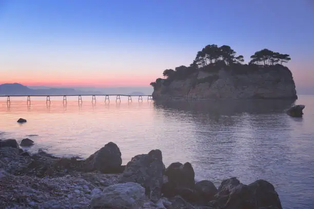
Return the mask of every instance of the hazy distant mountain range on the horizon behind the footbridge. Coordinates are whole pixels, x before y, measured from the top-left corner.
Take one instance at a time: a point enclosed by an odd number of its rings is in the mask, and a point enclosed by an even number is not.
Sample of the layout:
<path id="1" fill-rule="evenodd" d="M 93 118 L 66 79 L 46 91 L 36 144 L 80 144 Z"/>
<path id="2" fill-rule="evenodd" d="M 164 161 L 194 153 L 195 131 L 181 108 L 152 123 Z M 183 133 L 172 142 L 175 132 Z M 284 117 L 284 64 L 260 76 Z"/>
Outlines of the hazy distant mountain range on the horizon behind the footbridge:
<path id="1" fill-rule="evenodd" d="M 71 95 L 102 94 L 99 91 L 80 91 L 70 88 L 30 89 L 20 83 L 4 83 L 0 85 L 0 95 Z"/>

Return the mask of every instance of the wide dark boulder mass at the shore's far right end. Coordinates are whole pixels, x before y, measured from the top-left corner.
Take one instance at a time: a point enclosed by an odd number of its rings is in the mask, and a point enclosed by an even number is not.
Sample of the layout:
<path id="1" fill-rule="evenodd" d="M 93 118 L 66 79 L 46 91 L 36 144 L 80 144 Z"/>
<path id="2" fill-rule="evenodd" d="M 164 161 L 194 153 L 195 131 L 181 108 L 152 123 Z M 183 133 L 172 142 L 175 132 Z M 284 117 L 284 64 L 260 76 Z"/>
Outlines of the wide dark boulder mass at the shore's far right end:
<path id="1" fill-rule="evenodd" d="M 221 183 L 215 198 L 217 198 L 215 207 L 224 209 L 259 209 L 261 207 L 282 209 L 274 187 L 265 180 L 245 185 L 235 177 L 226 179 Z"/>

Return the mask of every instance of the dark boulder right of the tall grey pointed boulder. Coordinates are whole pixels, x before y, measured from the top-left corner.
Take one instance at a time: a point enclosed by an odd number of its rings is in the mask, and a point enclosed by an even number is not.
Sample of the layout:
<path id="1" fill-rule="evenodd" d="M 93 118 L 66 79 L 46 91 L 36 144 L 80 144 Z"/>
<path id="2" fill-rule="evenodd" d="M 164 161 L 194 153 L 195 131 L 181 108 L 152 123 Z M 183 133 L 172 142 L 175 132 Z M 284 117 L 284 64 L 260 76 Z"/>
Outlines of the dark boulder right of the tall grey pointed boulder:
<path id="1" fill-rule="evenodd" d="M 194 191 L 194 170 L 189 162 L 171 163 L 165 171 L 168 181 L 164 183 L 162 192 L 165 197 L 180 195 L 189 202 L 197 201 L 197 193 Z"/>

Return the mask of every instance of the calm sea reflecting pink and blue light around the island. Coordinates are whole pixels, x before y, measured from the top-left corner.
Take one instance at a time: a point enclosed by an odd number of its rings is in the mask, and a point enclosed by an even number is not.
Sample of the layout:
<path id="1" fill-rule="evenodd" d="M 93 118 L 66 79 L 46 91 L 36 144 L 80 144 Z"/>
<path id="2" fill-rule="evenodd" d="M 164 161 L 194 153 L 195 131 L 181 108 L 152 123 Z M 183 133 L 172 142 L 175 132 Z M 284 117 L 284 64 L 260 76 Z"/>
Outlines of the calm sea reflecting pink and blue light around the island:
<path id="1" fill-rule="evenodd" d="M 219 186 L 229 177 L 243 183 L 271 182 L 284 208 L 314 208 L 314 96 L 299 96 L 303 118 L 291 118 L 290 101 L 173 101 L 116 103 L 83 97 L 63 105 L 45 100 L 0 98 L 0 138 L 35 141 L 29 149 L 57 156 L 88 157 L 109 141 L 119 145 L 123 163 L 151 149 L 163 152 L 165 165 L 192 163 L 197 180 Z M 23 101 L 22 101 L 23 100 Z M 18 124 L 18 118 L 27 123 Z"/>

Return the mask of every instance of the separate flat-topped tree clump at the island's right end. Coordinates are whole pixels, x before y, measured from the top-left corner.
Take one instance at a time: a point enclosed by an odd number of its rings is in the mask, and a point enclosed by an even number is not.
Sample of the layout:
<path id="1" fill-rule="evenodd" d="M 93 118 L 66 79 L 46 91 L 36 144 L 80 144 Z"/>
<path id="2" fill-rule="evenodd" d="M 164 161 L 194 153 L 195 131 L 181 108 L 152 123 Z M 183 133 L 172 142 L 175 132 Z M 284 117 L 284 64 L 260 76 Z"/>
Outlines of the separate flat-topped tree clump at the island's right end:
<path id="1" fill-rule="evenodd" d="M 260 63 L 265 65 L 276 65 L 280 62 L 282 65 L 283 62 L 288 62 L 291 60 L 289 54 L 280 54 L 279 52 L 273 52 L 268 49 L 262 49 L 261 51 L 255 52 L 251 56 L 251 61 L 249 64 L 257 64 L 259 65 Z"/>

